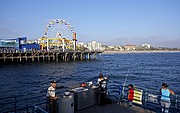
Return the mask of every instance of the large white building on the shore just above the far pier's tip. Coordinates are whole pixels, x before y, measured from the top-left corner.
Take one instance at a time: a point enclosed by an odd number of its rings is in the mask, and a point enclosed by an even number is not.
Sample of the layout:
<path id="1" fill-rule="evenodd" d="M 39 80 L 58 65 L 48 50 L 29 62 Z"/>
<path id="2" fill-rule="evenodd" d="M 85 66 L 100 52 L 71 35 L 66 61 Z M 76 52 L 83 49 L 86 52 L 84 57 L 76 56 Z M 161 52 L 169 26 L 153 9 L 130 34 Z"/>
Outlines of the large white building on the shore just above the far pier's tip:
<path id="1" fill-rule="evenodd" d="M 87 48 L 90 51 L 104 51 L 105 48 L 102 47 L 101 43 L 97 43 L 96 41 L 93 41 L 91 43 L 87 44 Z"/>

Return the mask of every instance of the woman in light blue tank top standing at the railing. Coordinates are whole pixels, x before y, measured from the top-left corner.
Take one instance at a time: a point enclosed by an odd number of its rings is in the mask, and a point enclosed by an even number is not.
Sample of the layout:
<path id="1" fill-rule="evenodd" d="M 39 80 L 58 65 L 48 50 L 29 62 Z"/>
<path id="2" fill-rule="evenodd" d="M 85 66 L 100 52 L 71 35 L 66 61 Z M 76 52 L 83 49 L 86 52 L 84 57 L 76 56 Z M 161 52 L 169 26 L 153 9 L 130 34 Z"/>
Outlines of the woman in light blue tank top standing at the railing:
<path id="1" fill-rule="evenodd" d="M 174 92 L 170 89 L 168 89 L 168 85 L 166 83 L 162 84 L 161 88 L 161 106 L 162 106 L 162 113 L 168 113 L 169 107 L 171 104 L 170 101 L 170 94 L 174 94 Z"/>

